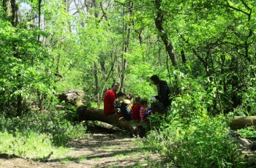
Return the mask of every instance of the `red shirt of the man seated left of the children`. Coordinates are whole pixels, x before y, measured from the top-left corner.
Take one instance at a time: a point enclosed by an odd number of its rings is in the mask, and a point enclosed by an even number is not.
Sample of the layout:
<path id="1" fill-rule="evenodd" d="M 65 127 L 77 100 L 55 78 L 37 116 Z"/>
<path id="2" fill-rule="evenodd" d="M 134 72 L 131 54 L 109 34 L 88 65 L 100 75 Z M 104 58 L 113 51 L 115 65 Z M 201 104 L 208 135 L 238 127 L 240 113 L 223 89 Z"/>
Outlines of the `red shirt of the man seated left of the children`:
<path id="1" fill-rule="evenodd" d="M 109 89 L 104 96 L 104 114 L 115 114 L 113 103 L 116 100 L 116 93 Z"/>

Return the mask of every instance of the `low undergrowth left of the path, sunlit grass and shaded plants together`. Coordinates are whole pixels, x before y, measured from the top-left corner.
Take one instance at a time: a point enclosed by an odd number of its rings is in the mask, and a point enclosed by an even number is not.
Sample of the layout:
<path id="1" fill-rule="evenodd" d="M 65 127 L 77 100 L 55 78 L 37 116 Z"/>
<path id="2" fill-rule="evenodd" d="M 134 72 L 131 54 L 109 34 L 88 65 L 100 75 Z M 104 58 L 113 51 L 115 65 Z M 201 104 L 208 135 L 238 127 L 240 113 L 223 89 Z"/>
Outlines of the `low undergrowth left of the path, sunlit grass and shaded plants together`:
<path id="1" fill-rule="evenodd" d="M 0 116 L 0 153 L 46 161 L 67 153 L 72 138 L 82 137 L 85 127 L 71 123 L 66 112 L 29 112 L 20 118 Z"/>

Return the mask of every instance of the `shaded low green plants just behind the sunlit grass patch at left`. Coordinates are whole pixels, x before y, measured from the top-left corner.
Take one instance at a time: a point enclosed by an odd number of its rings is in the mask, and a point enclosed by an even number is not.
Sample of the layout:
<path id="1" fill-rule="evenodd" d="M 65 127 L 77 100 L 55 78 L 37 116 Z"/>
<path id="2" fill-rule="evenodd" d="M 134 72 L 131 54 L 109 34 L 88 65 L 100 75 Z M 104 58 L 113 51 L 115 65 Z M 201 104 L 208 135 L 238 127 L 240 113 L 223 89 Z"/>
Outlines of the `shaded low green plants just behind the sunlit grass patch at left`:
<path id="1" fill-rule="evenodd" d="M 81 123 L 70 123 L 65 112 L 48 112 L 38 114 L 29 112 L 22 118 L 7 118 L 1 115 L 0 130 L 10 134 L 26 135 L 32 133 L 46 134 L 53 145 L 63 146 L 69 140 L 82 137 L 85 129 Z"/>

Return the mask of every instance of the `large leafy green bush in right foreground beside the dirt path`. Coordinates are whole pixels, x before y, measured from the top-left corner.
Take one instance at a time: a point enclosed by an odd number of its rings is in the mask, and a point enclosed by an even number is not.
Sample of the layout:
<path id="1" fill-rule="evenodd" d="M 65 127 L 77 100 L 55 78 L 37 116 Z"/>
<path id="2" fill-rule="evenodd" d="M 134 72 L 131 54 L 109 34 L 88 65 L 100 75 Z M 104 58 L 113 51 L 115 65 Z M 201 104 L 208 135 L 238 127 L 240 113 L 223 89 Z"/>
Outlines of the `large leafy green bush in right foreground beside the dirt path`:
<path id="1" fill-rule="evenodd" d="M 149 118 L 156 129 L 148 133 L 145 147 L 180 167 L 243 167 L 227 118 L 208 115 L 212 95 L 196 81 L 181 80 L 184 93 L 174 99 L 167 116 Z"/>

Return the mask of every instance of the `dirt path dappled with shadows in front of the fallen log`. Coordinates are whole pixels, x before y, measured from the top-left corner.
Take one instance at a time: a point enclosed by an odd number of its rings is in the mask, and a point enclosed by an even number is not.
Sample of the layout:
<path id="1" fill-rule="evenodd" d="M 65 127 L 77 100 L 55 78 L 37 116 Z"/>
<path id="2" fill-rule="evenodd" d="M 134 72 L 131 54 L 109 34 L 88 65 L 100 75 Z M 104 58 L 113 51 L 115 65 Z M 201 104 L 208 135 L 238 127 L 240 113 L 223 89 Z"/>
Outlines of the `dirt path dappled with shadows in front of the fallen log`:
<path id="1" fill-rule="evenodd" d="M 91 126 L 87 132 L 69 142 L 63 157 L 37 162 L 0 156 L 0 167 L 157 167 L 160 162 L 157 154 L 142 152 L 138 146 L 142 139 L 130 138 L 125 131 Z"/>

